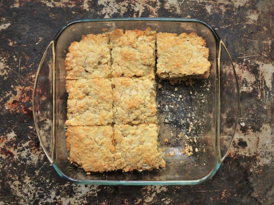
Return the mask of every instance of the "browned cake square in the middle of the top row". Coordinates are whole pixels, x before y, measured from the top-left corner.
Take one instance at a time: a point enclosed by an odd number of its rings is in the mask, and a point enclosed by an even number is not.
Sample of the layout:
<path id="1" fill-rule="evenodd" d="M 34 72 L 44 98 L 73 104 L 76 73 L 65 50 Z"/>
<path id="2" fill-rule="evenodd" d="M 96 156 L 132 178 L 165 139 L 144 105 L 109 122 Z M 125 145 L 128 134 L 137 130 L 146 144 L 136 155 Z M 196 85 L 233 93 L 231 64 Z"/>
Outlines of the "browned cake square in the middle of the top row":
<path id="1" fill-rule="evenodd" d="M 155 35 L 150 28 L 110 32 L 112 76 L 154 76 Z"/>

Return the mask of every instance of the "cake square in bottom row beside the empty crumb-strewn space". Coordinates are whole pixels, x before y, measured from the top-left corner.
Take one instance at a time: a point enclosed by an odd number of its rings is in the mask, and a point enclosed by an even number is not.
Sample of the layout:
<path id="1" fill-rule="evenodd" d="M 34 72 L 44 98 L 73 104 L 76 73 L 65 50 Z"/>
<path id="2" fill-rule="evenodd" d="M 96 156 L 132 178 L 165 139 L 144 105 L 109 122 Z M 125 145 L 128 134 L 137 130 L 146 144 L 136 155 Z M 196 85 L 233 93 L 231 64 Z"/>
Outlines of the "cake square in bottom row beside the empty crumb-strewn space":
<path id="1" fill-rule="evenodd" d="M 157 136 L 156 124 L 114 125 L 115 168 L 127 172 L 165 167 Z"/>

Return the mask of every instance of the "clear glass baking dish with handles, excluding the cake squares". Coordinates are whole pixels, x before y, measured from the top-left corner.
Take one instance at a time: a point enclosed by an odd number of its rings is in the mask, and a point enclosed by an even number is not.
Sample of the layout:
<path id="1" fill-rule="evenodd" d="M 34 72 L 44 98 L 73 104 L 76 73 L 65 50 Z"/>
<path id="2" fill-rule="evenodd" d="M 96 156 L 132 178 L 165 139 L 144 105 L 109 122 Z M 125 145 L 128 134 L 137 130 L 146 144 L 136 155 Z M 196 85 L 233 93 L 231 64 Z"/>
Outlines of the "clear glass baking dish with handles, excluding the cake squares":
<path id="1" fill-rule="evenodd" d="M 202 36 L 210 51 L 210 76 L 182 83 L 156 78 L 159 142 L 165 148 L 165 168 L 87 175 L 67 159 L 64 123 L 67 49 L 71 42 L 81 40 L 82 35 L 102 33 L 103 29 L 145 30 L 146 27 L 157 32 L 195 32 Z M 33 116 L 41 146 L 58 174 L 77 184 L 193 185 L 204 182 L 219 169 L 232 143 L 238 114 L 239 89 L 232 60 L 216 31 L 197 19 L 119 18 L 72 22 L 50 42 L 34 84 Z M 186 143 L 193 147 L 191 156 L 182 154 Z"/>

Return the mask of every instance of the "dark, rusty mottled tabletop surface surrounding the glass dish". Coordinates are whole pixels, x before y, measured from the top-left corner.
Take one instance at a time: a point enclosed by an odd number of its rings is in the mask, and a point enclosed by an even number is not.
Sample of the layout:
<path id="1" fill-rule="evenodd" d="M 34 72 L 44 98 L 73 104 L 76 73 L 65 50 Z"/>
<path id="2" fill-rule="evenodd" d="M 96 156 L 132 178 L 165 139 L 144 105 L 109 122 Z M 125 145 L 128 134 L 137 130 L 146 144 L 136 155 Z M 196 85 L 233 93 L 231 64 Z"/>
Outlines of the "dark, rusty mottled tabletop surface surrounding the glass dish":
<path id="1" fill-rule="evenodd" d="M 112 17 L 197 18 L 225 42 L 238 74 L 240 120 L 206 183 L 75 185 L 43 153 L 31 94 L 46 46 L 68 22 Z M 0 204 L 274 204 L 273 23 L 273 0 L 0 0 Z"/>

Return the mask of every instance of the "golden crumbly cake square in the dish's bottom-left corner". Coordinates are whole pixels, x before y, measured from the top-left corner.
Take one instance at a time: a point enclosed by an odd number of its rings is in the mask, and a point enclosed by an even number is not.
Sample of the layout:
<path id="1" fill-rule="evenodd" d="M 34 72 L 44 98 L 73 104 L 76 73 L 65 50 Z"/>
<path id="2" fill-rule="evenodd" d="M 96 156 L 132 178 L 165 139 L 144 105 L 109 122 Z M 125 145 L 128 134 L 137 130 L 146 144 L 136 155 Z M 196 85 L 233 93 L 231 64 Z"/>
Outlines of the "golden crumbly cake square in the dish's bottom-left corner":
<path id="1" fill-rule="evenodd" d="M 111 126 L 70 126 L 66 137 L 71 163 L 77 163 L 85 171 L 115 170 Z"/>

